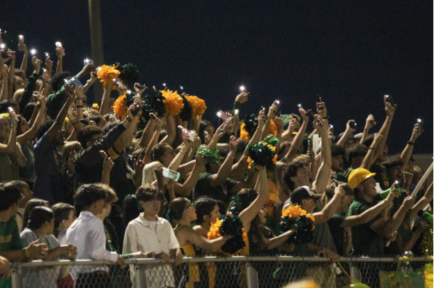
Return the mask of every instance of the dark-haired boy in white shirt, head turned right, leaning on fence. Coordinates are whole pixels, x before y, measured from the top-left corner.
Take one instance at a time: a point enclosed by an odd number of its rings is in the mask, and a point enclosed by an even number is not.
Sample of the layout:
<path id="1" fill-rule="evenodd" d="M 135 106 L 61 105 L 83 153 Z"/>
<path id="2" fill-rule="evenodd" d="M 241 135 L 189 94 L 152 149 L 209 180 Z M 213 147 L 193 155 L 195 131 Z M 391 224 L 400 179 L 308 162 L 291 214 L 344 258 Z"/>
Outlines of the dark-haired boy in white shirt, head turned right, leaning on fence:
<path id="1" fill-rule="evenodd" d="M 125 259 L 106 248 L 107 238 L 102 220 L 96 215 L 104 210 L 109 186 L 104 184 L 84 184 L 75 192 L 75 203 L 82 212 L 66 232 L 66 242 L 77 246 L 77 259 L 109 260 L 121 268 Z M 111 287 L 107 266 L 81 266 L 78 268 L 75 287 Z"/>

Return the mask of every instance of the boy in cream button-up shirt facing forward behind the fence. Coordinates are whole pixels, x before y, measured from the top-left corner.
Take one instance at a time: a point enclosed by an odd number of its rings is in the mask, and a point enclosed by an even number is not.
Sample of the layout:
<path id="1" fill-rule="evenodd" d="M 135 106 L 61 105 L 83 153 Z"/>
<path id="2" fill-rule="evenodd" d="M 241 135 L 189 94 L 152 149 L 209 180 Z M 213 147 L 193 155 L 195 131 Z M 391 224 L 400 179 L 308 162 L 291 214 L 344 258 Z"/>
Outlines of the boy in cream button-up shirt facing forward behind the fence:
<path id="1" fill-rule="evenodd" d="M 169 221 L 159 218 L 162 192 L 152 185 L 143 185 L 136 192 L 137 202 L 144 209 L 138 218 L 132 220 L 125 231 L 123 254 L 134 252 L 154 252 L 155 257 L 170 262 L 171 256 L 176 258 L 176 265 L 183 261 L 178 240 Z M 175 287 L 175 279 L 171 266 L 163 265 L 142 269 L 134 280 L 146 279 L 146 287 Z"/>

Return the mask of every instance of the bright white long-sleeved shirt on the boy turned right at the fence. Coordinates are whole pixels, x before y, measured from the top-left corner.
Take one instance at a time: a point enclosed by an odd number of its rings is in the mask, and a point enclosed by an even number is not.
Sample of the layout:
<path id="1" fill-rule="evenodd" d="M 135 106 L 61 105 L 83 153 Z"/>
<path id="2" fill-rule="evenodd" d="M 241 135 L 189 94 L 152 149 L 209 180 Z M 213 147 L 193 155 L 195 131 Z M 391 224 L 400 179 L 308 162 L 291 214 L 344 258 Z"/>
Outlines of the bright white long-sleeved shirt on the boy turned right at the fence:
<path id="1" fill-rule="evenodd" d="M 93 213 L 82 211 L 79 218 L 72 223 L 66 231 L 66 243 L 72 243 L 77 247 L 77 259 L 109 260 L 116 262 L 118 254 L 105 248 L 106 237 L 102 220 Z M 78 273 L 90 273 L 107 268 L 94 268 L 82 266 Z"/>

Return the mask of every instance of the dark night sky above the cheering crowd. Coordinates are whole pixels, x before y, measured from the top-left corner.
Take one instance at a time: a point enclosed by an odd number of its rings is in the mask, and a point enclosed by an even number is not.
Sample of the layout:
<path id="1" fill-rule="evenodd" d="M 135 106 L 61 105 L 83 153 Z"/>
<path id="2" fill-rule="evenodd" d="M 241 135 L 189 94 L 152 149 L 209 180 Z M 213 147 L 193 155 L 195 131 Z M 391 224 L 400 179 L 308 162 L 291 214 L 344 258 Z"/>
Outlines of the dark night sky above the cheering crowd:
<path id="1" fill-rule="evenodd" d="M 389 154 L 402 151 L 417 117 L 425 132 L 414 153 L 433 152 L 432 1 L 101 2 L 105 63 L 136 63 L 147 86 L 184 86 L 206 100 L 203 119 L 217 123 L 244 84 L 241 116 L 275 99 L 284 113 L 314 107 L 320 94 L 336 133 L 349 119 L 362 132 L 369 113 L 378 130 L 390 94 Z M 0 28 L 54 60 L 61 41 L 72 73 L 91 58 L 87 1 L 6 2 Z"/>

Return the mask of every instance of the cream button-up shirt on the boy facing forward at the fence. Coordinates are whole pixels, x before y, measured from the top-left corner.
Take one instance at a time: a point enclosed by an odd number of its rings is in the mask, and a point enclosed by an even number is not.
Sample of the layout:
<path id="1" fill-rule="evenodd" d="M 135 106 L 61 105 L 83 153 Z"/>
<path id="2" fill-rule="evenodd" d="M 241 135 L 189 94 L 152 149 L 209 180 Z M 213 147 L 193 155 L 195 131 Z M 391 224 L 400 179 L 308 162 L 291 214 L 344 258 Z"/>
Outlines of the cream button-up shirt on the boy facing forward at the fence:
<path id="1" fill-rule="evenodd" d="M 142 214 L 132 220 L 125 231 L 123 239 L 123 254 L 134 252 L 155 252 L 169 254 L 170 250 L 178 249 L 179 243 L 169 221 L 157 217 L 157 229 L 149 225 Z M 139 268 L 139 275 L 132 273 L 132 280 L 146 279 L 146 287 L 175 287 L 172 268 L 169 265 Z M 136 272 L 137 273 L 137 272 Z"/>

